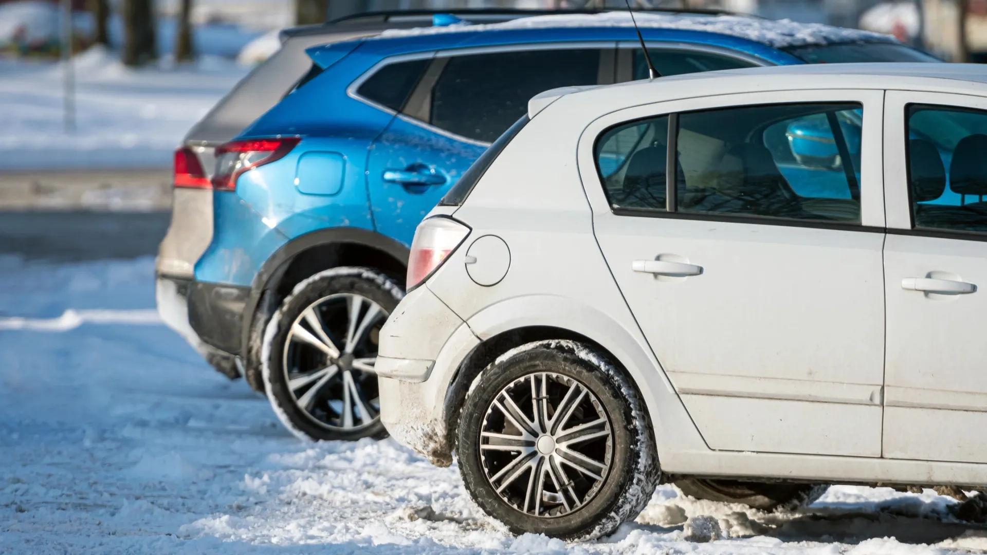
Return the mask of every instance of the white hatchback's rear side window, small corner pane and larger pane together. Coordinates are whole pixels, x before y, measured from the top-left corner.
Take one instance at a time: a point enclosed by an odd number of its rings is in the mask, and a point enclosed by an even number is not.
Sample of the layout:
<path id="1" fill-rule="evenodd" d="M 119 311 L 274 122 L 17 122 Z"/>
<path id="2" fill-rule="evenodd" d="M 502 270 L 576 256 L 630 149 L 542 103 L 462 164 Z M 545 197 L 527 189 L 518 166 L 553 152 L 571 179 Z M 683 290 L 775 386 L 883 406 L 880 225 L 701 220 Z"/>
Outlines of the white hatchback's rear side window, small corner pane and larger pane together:
<path id="1" fill-rule="evenodd" d="M 859 223 L 862 120 L 859 103 L 642 119 L 604 132 L 596 163 L 615 209 Z M 668 191 L 674 202 L 667 201 Z"/>

